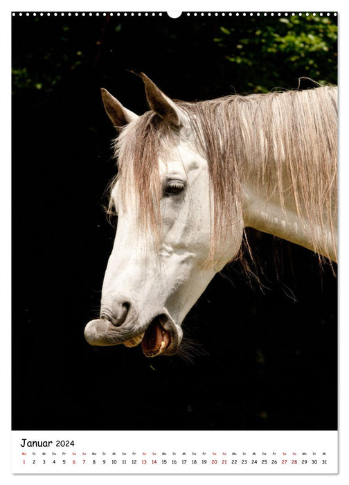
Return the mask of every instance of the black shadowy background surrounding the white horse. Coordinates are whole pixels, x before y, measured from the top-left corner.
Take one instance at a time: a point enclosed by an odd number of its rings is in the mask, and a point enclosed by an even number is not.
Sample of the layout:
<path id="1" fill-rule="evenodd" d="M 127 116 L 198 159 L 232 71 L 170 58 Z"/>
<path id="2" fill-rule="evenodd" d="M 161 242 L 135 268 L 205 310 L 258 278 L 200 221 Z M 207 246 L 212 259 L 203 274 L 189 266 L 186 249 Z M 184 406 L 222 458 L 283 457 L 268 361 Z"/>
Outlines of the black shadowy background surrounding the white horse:
<path id="1" fill-rule="evenodd" d="M 336 83 L 336 33 L 333 15 L 12 17 L 13 430 L 337 429 L 337 279 L 272 236 L 249 231 L 262 288 L 236 264 L 218 274 L 182 355 L 83 336 L 115 232 L 100 87 L 141 114 L 130 71 L 184 100 Z"/>

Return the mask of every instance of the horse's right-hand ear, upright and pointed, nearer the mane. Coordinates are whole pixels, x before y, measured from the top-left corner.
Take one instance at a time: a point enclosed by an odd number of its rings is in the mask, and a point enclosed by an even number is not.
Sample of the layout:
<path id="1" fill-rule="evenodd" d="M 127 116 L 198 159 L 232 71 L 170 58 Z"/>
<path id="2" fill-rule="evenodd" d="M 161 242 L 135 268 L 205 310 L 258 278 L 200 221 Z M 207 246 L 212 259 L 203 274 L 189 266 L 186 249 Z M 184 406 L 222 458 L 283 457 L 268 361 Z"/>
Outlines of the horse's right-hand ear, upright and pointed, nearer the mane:
<path id="1" fill-rule="evenodd" d="M 177 105 L 168 98 L 160 89 L 154 85 L 144 73 L 141 73 L 145 85 L 145 94 L 147 95 L 147 102 L 150 108 L 159 114 L 163 120 L 168 121 L 175 127 L 181 126 L 181 112 Z"/>

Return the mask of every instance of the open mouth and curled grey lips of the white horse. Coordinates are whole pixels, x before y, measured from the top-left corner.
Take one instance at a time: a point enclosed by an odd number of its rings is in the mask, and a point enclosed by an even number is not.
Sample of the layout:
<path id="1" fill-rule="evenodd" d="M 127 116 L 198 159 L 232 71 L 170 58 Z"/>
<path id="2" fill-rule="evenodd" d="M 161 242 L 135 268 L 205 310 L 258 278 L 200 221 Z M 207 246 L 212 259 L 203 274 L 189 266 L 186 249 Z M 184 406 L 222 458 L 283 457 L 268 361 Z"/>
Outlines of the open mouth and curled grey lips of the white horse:
<path id="1" fill-rule="evenodd" d="M 127 331 L 128 330 L 128 331 Z M 157 355 L 174 355 L 178 351 L 183 332 L 181 327 L 168 314 L 157 315 L 141 332 L 133 328 L 114 326 L 105 318 L 90 321 L 84 330 L 87 342 L 97 346 L 124 344 L 135 347 L 142 342 L 146 357 Z M 143 330 L 143 331 L 142 331 Z"/>

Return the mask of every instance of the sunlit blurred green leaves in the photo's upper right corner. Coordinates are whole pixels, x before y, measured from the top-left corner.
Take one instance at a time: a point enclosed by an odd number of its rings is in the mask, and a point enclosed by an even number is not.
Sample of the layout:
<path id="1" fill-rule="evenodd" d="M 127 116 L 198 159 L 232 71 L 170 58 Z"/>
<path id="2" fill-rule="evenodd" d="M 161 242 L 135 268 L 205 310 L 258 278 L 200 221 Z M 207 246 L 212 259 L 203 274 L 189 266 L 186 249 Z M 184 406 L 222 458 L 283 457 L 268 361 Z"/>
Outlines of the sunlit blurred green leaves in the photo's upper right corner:
<path id="1" fill-rule="evenodd" d="M 233 27 L 221 26 L 214 42 L 239 77 L 254 92 L 285 87 L 289 78 L 307 76 L 320 84 L 337 84 L 335 17 L 289 16 L 261 23 L 253 17 Z"/>

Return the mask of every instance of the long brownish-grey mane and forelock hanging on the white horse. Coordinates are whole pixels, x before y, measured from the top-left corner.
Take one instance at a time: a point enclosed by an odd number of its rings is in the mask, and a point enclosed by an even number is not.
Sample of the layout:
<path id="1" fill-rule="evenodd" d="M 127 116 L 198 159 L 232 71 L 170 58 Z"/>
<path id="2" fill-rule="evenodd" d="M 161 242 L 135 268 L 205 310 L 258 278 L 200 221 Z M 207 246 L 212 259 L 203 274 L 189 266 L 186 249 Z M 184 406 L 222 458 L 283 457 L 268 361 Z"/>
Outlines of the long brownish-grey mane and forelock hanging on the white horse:
<path id="1" fill-rule="evenodd" d="M 197 149 L 207 159 L 213 191 L 212 249 L 233 233 L 242 213 L 242 182 L 251 170 L 281 206 L 292 197 L 298 215 L 332 239 L 337 213 L 337 87 L 233 95 L 175 103 L 188 115 Z M 156 113 L 146 112 L 116 139 L 120 193 L 126 203 L 137 187 L 139 224 L 159 234 L 159 157 L 181 136 Z M 114 182 L 111 184 L 114 187 Z M 111 187 L 111 188 L 112 188 Z M 109 204 L 111 209 L 112 202 Z M 316 235 L 314 230 L 314 247 Z"/>

